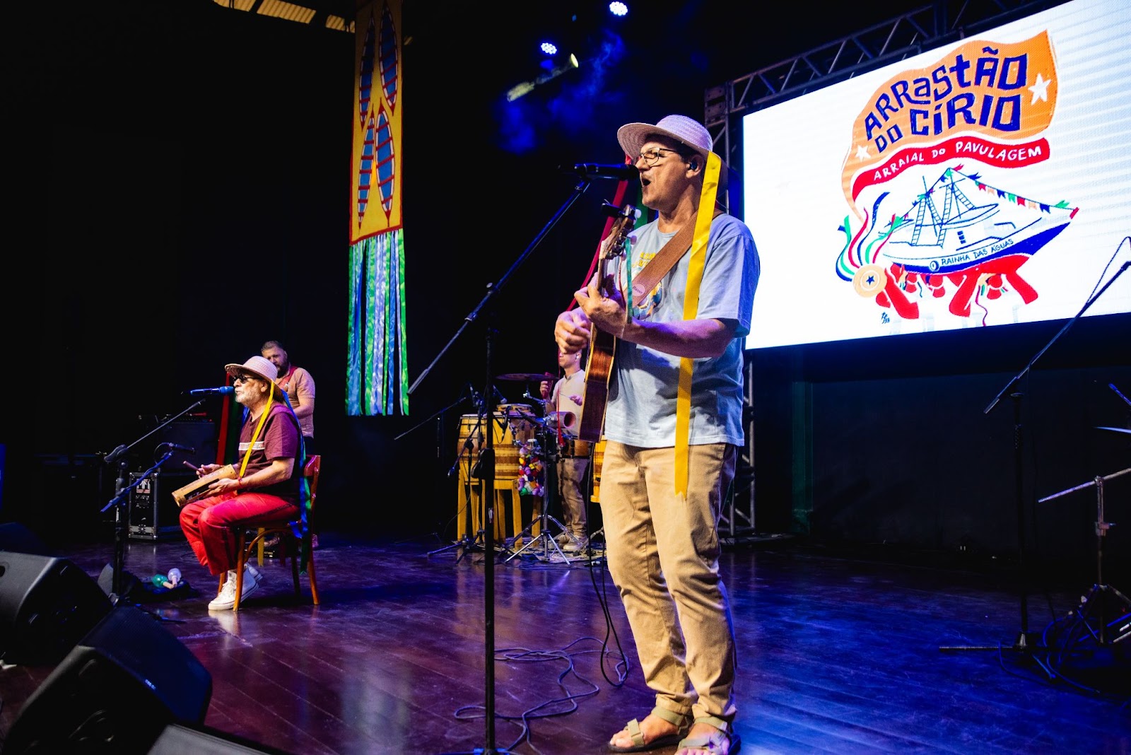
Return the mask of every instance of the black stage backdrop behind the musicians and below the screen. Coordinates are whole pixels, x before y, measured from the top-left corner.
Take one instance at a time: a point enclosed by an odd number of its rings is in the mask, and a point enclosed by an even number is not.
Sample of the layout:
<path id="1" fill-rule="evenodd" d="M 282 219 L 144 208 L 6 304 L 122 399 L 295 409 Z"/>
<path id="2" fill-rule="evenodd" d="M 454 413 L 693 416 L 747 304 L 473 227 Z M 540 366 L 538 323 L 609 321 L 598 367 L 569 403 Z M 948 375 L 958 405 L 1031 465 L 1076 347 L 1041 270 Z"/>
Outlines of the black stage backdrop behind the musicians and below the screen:
<path id="1" fill-rule="evenodd" d="M 101 531 L 89 524 L 104 521 L 116 474 L 102 454 L 278 338 L 318 382 L 327 524 L 454 537 L 447 471 L 472 410 L 464 388 L 489 372 L 485 326 L 498 329 L 491 373 L 554 371 L 554 314 L 581 283 L 615 189 L 595 182 L 547 227 L 573 197 L 558 166 L 619 162 L 621 123 L 698 116 L 705 88 L 908 7 L 770 24 L 757 8 L 659 2 L 618 33 L 578 12 L 568 23 L 582 68 L 507 104 L 503 92 L 538 73 L 511 35 L 561 16 L 513 21 L 408 0 L 409 380 L 429 372 L 409 416 L 390 417 L 344 409 L 352 37 L 209 0 L 17 19 L 5 118 L 10 235 L 23 241 L 7 302 L 0 513 L 48 537 Z M 1012 407 L 983 409 L 1062 324 L 752 353 L 758 529 L 1012 554 Z M 1128 326 L 1080 321 L 1024 383 L 1029 504 L 1131 463 L 1125 437 L 1094 429 L 1128 425 L 1106 388 L 1131 391 Z M 499 388 L 521 402 L 527 385 Z M 218 410 L 209 399 L 185 420 Z M 158 440 L 139 442 L 129 467 L 149 466 Z M 1126 491 L 1125 478 L 1111 485 L 1110 519 Z M 1028 510 L 1050 553 L 1088 558 L 1094 500 Z"/>

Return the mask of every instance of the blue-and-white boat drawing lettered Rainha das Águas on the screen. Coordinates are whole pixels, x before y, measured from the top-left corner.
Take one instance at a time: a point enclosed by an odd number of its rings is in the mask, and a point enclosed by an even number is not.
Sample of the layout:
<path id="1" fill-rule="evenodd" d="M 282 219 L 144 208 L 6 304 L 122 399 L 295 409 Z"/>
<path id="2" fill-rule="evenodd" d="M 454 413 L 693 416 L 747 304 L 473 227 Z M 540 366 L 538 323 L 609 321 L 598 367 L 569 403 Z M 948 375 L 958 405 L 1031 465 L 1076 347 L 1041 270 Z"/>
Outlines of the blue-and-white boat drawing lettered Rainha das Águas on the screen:
<path id="1" fill-rule="evenodd" d="M 884 229 L 883 257 L 909 272 L 947 275 L 1009 255 L 1029 258 L 1076 214 L 1064 202 L 1026 199 L 957 168 L 923 184 L 912 207 Z"/>

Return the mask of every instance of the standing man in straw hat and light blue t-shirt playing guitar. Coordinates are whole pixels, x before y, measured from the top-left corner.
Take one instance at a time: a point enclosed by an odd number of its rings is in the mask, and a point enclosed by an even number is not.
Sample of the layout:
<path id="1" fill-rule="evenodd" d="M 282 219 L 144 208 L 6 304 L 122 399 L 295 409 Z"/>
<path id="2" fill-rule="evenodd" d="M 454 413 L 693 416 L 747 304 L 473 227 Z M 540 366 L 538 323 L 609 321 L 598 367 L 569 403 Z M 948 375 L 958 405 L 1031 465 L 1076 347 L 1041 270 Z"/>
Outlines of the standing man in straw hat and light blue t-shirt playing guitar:
<path id="1" fill-rule="evenodd" d="M 642 203 L 657 212 L 633 233 L 631 279 L 650 281 L 662 259 L 672 264 L 647 290 L 628 290 L 628 261 L 619 288 L 594 276 L 554 327 L 567 353 L 598 331 L 616 339 L 601 506 L 608 570 L 656 706 L 608 748 L 727 755 L 739 747 L 736 661 L 718 519 L 744 442 L 742 345 L 758 252 L 744 223 L 716 212 L 727 174 L 702 124 L 668 115 L 616 136 L 640 172 Z M 668 253 L 672 238 L 681 241 Z"/>

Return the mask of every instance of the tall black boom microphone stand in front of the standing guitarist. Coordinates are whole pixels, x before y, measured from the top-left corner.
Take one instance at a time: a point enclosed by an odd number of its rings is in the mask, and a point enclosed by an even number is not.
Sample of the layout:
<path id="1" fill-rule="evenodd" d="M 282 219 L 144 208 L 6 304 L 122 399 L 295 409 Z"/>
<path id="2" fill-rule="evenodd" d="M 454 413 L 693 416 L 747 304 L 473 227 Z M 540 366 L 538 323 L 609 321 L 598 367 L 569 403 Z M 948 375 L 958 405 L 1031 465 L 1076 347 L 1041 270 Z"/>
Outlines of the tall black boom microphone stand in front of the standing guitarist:
<path id="1" fill-rule="evenodd" d="M 440 353 L 435 355 L 432 363 L 424 368 L 424 372 L 408 387 L 408 392 L 412 393 L 420 385 L 421 381 L 432 371 L 432 367 L 440 361 L 440 358 L 451 348 L 452 344 L 463 335 L 464 330 L 467 329 L 469 324 L 475 322 L 480 315 L 483 313 L 487 303 L 494 298 L 495 294 L 510 280 L 515 271 L 521 267 L 523 262 L 529 258 L 534 249 L 542 242 L 542 240 L 550 233 L 550 229 L 556 225 L 558 220 L 561 219 L 566 211 L 572 207 L 585 190 L 589 188 L 592 183 L 590 179 L 581 177 L 580 181 L 573 186 L 572 193 L 567 197 L 562 206 L 558 208 L 558 211 L 550 218 L 545 226 L 534 236 L 523 253 L 518 255 L 518 259 L 510 266 L 510 268 L 503 274 L 498 283 L 489 283 L 486 288 L 486 294 L 480 300 L 480 303 L 472 310 L 465 318 L 464 323 L 456 330 L 456 333 L 451 339 L 444 345 Z M 489 316 L 489 322 L 484 330 L 484 405 L 486 403 L 486 397 L 495 396 L 494 388 L 494 375 L 491 367 L 492 347 L 493 338 L 498 332 L 494 328 L 494 313 Z M 490 426 L 490 422 L 493 419 L 493 414 L 487 407 L 486 417 L 489 420 L 489 427 L 491 432 L 485 432 L 484 435 L 486 444 L 482 451 L 480 451 L 480 479 L 482 480 L 482 495 L 483 501 L 483 529 L 484 529 L 484 590 L 483 590 L 483 628 L 484 628 L 484 641 L 483 641 L 483 656 L 484 656 L 484 686 L 486 701 L 484 703 L 484 719 L 486 722 L 486 746 L 482 749 L 475 749 L 474 755 L 502 755 L 500 750 L 495 749 L 495 728 L 494 728 L 494 477 L 495 477 L 495 465 L 494 465 L 494 427 Z"/>

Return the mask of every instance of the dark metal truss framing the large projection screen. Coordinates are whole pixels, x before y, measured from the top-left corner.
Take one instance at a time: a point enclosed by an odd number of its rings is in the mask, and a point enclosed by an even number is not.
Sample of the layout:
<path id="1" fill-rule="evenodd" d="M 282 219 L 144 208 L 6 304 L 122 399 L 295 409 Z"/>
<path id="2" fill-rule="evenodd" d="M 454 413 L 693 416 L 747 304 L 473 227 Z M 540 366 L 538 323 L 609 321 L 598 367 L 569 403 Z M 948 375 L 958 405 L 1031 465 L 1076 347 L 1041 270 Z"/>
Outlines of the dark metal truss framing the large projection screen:
<path id="1" fill-rule="evenodd" d="M 741 165 L 740 145 L 732 139 L 731 128 L 740 127 L 742 115 L 1065 1 L 1068 0 L 936 0 L 932 5 L 707 89 L 703 123 L 710 131 L 715 151 L 726 155 L 728 164 Z M 743 407 L 746 444 L 739 455 L 733 495 L 724 506 L 719 521 L 719 537 L 729 541 L 752 535 L 756 526 L 754 424 L 751 411 L 753 382 L 753 367 L 748 359 Z"/>

